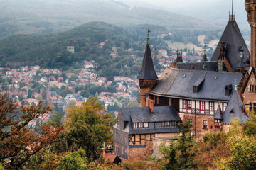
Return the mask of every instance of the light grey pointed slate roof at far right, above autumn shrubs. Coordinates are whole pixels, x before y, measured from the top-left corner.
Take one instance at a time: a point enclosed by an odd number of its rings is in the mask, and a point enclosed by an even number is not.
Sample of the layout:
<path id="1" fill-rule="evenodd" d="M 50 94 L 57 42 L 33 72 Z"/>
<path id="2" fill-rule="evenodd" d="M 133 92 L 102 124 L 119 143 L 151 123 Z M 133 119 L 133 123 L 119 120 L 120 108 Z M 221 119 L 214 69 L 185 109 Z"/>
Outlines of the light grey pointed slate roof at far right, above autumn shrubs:
<path id="1" fill-rule="evenodd" d="M 233 92 L 230 101 L 228 102 L 228 106 L 223 113 L 222 123 L 230 123 L 232 118 L 239 118 L 241 123 L 246 123 L 247 120 L 250 119 L 250 116 L 245 113 L 245 106 L 242 103 L 238 91 Z"/>

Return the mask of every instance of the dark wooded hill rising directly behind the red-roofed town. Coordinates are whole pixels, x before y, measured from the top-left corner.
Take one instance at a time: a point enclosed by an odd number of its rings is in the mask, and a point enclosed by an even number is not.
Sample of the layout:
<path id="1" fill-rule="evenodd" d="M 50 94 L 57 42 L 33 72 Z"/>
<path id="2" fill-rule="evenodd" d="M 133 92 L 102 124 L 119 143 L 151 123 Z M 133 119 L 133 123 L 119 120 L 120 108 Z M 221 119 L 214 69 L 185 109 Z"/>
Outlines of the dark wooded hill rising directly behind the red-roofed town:
<path id="1" fill-rule="evenodd" d="M 127 36 L 122 28 L 102 22 L 91 22 L 50 35 L 12 35 L 0 40 L 0 64 L 1 67 L 38 64 L 41 67 L 65 69 L 75 62 L 95 60 L 100 64 L 97 67 L 100 69 L 105 64 L 111 64 L 113 46 L 122 49 L 131 46 Z M 105 42 L 105 45 L 100 47 L 100 42 Z M 69 45 L 75 46 L 75 54 L 66 50 Z"/>

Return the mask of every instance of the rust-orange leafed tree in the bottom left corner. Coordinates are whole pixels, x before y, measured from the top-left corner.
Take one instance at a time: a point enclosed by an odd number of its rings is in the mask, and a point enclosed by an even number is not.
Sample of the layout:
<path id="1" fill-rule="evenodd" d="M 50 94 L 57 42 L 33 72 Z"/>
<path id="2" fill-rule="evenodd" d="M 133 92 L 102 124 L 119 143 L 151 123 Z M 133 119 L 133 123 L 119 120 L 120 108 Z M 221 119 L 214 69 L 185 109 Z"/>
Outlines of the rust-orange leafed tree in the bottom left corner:
<path id="1" fill-rule="evenodd" d="M 50 113 L 50 108 L 43 107 L 41 102 L 19 111 L 8 95 L 0 96 L 0 163 L 5 169 L 22 169 L 31 156 L 54 142 L 62 130 L 43 125 L 35 133 L 28 128 L 31 120 Z"/>

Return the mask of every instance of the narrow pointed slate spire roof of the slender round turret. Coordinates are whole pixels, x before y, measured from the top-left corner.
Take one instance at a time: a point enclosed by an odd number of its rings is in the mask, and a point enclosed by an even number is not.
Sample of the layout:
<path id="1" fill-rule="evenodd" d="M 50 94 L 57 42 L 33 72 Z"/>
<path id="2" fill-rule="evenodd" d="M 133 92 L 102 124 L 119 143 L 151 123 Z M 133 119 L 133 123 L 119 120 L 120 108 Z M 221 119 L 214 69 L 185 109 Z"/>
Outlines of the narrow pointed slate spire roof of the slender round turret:
<path id="1" fill-rule="evenodd" d="M 142 69 L 139 72 L 138 79 L 158 79 L 156 72 L 154 70 L 154 64 L 151 57 L 151 51 L 149 44 L 146 45 L 146 50 L 144 53 Z"/>

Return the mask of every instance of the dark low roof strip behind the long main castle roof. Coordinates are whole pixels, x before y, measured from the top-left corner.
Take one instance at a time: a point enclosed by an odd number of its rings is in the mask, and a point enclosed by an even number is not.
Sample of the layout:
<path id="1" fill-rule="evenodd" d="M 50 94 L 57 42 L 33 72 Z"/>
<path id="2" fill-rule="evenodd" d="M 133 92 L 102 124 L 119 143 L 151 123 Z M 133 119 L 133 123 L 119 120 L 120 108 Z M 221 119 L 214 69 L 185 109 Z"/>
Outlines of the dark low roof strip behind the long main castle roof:
<path id="1" fill-rule="evenodd" d="M 178 69 L 195 69 L 195 70 L 207 70 L 218 71 L 218 62 L 179 62 L 177 63 Z"/>

